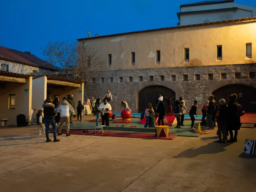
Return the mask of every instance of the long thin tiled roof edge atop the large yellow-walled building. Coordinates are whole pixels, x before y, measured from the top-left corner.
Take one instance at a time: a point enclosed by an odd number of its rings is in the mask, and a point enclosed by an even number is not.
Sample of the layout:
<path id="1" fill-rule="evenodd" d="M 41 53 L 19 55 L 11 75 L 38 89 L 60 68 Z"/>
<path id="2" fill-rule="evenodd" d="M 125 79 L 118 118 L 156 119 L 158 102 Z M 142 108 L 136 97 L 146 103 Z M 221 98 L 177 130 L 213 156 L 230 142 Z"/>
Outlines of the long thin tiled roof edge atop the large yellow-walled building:
<path id="1" fill-rule="evenodd" d="M 99 38 L 106 38 L 106 37 L 130 35 L 130 34 L 137 34 L 137 33 L 147 33 L 147 32 L 155 32 L 155 31 L 163 31 L 163 30 L 174 30 L 174 29 L 199 27 L 199 26 L 208 26 L 208 25 L 217 25 L 217 24 L 234 23 L 234 22 L 251 21 L 251 20 L 256 20 L 256 17 L 248 17 L 248 18 L 231 19 L 231 20 L 224 20 L 224 21 L 215 21 L 215 22 L 209 22 L 209 23 L 200 23 L 200 24 L 192 24 L 192 25 L 183 25 L 183 26 L 166 27 L 166 28 L 159 28 L 159 29 L 150 29 L 150 30 L 118 33 L 118 34 L 111 34 L 111 35 L 103 35 L 103 36 L 95 36 L 95 37 L 88 37 L 88 38 L 80 38 L 80 39 L 77 39 L 77 40 L 78 41 L 80 41 L 80 40 L 91 40 L 91 39 L 99 39 Z"/>

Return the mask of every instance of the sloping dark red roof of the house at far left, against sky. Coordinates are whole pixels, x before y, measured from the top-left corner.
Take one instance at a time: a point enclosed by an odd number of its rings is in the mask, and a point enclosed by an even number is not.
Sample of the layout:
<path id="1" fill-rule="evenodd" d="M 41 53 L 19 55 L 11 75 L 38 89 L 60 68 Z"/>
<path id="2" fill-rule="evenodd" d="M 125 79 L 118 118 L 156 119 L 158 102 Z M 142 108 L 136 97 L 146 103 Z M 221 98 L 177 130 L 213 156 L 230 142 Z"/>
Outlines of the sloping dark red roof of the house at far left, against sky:
<path id="1" fill-rule="evenodd" d="M 11 62 L 26 64 L 33 67 L 46 68 L 50 70 L 59 70 L 48 62 L 30 54 L 30 52 L 21 52 L 7 47 L 0 46 L 0 59 Z"/>

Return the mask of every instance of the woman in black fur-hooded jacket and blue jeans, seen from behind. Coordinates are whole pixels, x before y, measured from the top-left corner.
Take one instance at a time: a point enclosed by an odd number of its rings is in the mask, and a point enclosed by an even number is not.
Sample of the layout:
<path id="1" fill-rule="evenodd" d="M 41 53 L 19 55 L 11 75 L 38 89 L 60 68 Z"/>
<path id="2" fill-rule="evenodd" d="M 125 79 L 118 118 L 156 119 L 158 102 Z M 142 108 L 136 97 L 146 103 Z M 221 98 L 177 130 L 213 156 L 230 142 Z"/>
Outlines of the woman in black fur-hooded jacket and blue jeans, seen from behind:
<path id="1" fill-rule="evenodd" d="M 45 136 L 46 136 L 46 142 L 51 142 L 52 140 L 49 138 L 49 127 L 50 124 L 53 128 L 53 136 L 54 136 L 54 142 L 60 141 L 56 138 L 56 122 L 55 122 L 55 108 L 54 104 L 52 104 L 52 98 L 47 99 L 46 104 L 43 104 L 44 108 L 44 123 L 45 123 Z"/>

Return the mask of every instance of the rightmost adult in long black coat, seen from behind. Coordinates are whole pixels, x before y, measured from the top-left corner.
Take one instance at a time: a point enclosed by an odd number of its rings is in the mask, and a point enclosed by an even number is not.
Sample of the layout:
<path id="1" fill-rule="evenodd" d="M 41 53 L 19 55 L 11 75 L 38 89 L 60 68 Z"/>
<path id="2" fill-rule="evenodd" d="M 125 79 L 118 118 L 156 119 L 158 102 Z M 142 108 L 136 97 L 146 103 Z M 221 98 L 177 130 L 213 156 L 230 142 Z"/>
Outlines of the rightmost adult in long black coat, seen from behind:
<path id="1" fill-rule="evenodd" d="M 238 112 L 238 103 L 236 102 L 237 94 L 231 94 L 228 102 L 228 132 L 230 134 L 230 140 L 227 142 L 237 142 L 238 130 L 240 130 L 240 115 Z M 235 135 L 233 138 L 233 130 Z"/>

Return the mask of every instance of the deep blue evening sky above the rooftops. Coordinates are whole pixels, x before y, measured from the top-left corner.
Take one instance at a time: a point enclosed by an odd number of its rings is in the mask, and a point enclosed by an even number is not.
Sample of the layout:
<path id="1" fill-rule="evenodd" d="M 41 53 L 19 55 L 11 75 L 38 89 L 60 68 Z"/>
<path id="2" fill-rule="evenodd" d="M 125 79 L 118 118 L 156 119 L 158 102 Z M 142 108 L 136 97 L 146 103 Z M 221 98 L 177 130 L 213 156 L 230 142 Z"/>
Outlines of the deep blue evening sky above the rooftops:
<path id="1" fill-rule="evenodd" d="M 202 0 L 1 0 L 0 46 L 42 59 L 49 41 L 177 26 L 181 4 Z M 256 0 L 235 0 L 256 7 Z"/>

